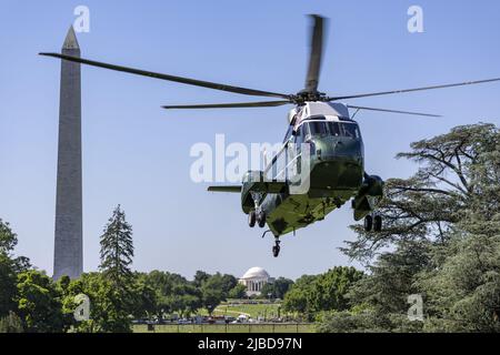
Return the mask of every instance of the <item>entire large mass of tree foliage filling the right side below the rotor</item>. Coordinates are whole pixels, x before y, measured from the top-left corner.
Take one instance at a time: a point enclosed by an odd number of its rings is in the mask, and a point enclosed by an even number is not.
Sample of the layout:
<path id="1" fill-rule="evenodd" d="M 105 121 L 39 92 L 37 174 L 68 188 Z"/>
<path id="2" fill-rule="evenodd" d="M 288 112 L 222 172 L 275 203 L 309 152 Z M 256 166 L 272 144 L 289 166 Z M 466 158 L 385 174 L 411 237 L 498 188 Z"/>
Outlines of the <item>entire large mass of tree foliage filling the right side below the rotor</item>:
<path id="1" fill-rule="evenodd" d="M 361 322 L 354 322 L 358 328 L 371 328 L 369 318 L 387 331 L 497 332 L 499 130 L 483 123 L 458 126 L 411 149 L 398 158 L 419 169 L 409 179 L 387 182 L 380 206 L 384 230 L 353 226 L 358 239 L 343 250 L 371 272 L 350 293 L 364 313 L 349 317 Z M 423 296 L 426 318 L 401 327 L 410 294 Z M 334 325 L 340 316 L 332 314 L 327 323 Z"/>

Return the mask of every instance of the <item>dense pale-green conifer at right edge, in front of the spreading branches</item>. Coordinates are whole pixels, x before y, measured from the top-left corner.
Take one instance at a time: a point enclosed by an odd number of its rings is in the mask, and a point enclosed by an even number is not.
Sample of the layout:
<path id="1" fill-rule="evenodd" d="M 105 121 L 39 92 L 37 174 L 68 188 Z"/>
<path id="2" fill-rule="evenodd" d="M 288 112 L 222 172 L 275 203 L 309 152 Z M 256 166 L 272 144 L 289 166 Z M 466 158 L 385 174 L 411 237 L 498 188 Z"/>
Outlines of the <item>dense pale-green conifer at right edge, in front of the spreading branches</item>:
<path id="1" fill-rule="evenodd" d="M 477 149 L 472 203 L 449 246 L 432 250 L 441 266 L 418 280 L 428 298 L 427 331 L 500 332 L 500 134 Z"/>

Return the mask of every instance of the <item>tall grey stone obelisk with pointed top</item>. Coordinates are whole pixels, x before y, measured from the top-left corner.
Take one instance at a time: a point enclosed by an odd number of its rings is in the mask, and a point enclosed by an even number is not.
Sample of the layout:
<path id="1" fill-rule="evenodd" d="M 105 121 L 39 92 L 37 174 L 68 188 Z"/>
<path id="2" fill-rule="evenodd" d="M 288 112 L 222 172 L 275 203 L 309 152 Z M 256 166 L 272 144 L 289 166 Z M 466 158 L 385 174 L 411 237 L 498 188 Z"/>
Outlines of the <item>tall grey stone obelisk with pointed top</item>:
<path id="1" fill-rule="evenodd" d="M 71 27 L 62 54 L 80 57 Z M 83 272 L 80 63 L 61 61 L 53 278 Z"/>

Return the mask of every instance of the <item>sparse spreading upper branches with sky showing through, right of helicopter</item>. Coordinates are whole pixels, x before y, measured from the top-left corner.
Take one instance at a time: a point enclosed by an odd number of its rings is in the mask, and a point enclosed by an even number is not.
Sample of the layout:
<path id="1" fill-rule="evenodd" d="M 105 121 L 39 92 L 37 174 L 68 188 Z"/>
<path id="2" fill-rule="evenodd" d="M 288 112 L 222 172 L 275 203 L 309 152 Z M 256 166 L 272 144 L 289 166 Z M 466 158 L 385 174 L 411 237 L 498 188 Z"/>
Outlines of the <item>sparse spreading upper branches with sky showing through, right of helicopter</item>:
<path id="1" fill-rule="evenodd" d="M 384 197 L 378 213 L 384 221 L 382 232 L 364 232 L 353 225 L 358 237 L 346 242 L 342 251 L 369 264 L 380 250 L 399 241 L 429 241 L 446 244 L 454 224 L 463 219 L 468 206 L 481 204 L 488 189 L 498 184 L 498 165 L 483 163 L 498 154 L 499 132 L 493 124 L 472 124 L 411 144 L 411 152 L 399 153 L 419 164 L 409 179 L 386 182 Z M 477 184 L 479 172 L 483 184 Z M 484 175 L 489 175 L 486 178 Z M 486 190 L 484 190 L 486 189 Z M 492 202 L 494 204 L 494 202 Z"/>

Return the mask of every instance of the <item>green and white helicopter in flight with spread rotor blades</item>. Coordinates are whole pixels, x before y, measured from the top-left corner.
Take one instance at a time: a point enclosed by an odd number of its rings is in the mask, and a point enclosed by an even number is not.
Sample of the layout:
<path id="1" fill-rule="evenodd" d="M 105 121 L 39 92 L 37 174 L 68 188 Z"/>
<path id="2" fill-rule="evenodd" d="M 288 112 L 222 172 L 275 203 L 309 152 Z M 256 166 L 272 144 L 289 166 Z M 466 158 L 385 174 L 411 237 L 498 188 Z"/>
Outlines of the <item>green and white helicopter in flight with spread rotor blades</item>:
<path id="1" fill-rule="evenodd" d="M 311 14 L 310 54 L 304 89 L 294 94 L 256 90 L 201 81 L 129 67 L 98 62 L 63 53 L 40 55 L 92 67 L 127 72 L 166 81 L 202 87 L 238 94 L 274 98 L 272 101 L 163 105 L 163 109 L 272 108 L 293 104 L 288 114 L 288 130 L 281 149 L 262 171 L 243 174 L 241 185 L 209 186 L 208 191 L 239 193 L 242 211 L 250 227 L 264 227 L 274 236 L 272 255 L 280 253 L 280 236 L 322 221 L 336 209 L 351 201 L 354 221 L 363 221 L 366 231 L 380 232 L 382 217 L 377 206 L 383 197 L 383 180 L 364 171 L 363 141 L 358 122 L 359 111 L 378 111 L 439 118 L 438 114 L 398 111 L 344 104 L 340 101 L 446 89 L 500 81 L 500 78 L 431 87 L 329 97 L 318 91 L 327 19 Z M 276 100 L 280 99 L 280 100 Z M 354 110 L 350 114 L 350 110 Z M 307 163 L 304 163 L 307 162 Z M 290 169 L 291 168 L 291 169 Z M 300 179 L 297 179 L 300 176 Z M 306 187 L 304 187 L 306 186 Z"/>

